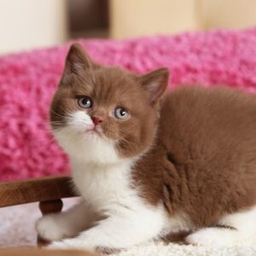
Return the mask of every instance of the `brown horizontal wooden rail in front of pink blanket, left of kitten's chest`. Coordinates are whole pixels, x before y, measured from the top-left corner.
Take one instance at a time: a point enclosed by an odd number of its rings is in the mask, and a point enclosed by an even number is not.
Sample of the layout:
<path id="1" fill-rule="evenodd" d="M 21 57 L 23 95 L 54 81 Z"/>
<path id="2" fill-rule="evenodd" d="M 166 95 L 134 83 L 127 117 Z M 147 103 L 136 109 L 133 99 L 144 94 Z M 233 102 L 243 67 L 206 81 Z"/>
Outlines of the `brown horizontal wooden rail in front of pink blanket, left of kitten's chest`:
<path id="1" fill-rule="evenodd" d="M 37 201 L 57 201 L 73 196 L 79 195 L 75 193 L 71 177 L 67 175 L 0 183 L 0 207 Z"/>

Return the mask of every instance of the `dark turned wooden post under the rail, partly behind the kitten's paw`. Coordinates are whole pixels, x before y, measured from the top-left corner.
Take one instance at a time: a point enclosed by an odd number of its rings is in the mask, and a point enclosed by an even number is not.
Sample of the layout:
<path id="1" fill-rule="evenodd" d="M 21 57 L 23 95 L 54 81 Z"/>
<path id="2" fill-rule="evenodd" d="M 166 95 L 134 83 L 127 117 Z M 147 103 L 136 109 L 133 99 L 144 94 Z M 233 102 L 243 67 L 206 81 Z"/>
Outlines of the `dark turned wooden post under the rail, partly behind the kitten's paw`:
<path id="1" fill-rule="evenodd" d="M 63 202 L 61 201 L 61 199 L 39 202 L 39 209 L 42 212 L 43 216 L 52 212 L 61 212 L 62 207 Z M 44 247 L 47 244 L 49 244 L 49 241 L 45 241 L 42 237 L 38 236 L 38 247 Z"/>

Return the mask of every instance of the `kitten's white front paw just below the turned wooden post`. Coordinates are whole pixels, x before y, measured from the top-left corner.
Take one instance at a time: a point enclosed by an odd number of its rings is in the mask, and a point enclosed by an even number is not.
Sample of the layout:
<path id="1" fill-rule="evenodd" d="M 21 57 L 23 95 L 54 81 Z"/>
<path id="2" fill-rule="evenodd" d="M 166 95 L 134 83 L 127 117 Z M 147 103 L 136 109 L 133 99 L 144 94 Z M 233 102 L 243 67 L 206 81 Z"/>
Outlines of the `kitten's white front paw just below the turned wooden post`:
<path id="1" fill-rule="evenodd" d="M 57 221 L 58 214 L 53 213 L 39 218 L 36 223 L 38 235 L 47 241 L 61 240 L 67 234 L 61 224 Z"/>

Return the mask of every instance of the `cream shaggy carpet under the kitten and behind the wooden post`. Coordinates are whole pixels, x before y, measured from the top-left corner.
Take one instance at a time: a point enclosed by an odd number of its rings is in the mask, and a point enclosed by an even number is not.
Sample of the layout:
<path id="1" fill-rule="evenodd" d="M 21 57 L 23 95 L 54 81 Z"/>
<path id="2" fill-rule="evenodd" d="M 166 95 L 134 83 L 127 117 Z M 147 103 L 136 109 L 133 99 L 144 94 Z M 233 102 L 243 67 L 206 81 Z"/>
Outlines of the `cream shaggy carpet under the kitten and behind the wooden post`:
<path id="1" fill-rule="evenodd" d="M 75 201 L 65 200 L 70 207 Z M 65 208 L 64 207 L 64 208 Z M 0 208 L 0 247 L 35 246 L 34 223 L 40 217 L 38 204 Z M 256 221 L 256 220 L 255 220 Z M 249 242 L 252 244 L 252 241 Z M 194 247 L 170 243 L 147 243 L 116 254 L 119 256 L 256 256 L 256 241 L 236 247 Z"/>

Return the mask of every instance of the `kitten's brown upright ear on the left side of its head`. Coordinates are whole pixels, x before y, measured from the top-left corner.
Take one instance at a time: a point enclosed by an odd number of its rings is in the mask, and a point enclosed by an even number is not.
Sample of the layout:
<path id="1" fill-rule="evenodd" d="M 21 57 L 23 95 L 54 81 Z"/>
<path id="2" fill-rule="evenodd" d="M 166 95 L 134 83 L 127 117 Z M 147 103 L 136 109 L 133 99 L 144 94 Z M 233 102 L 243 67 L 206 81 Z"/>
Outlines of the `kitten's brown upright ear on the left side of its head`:
<path id="1" fill-rule="evenodd" d="M 90 56 L 85 53 L 80 44 L 72 44 L 67 53 L 61 84 L 70 83 L 73 76 L 79 76 L 87 68 L 93 68 L 95 66 Z"/>

